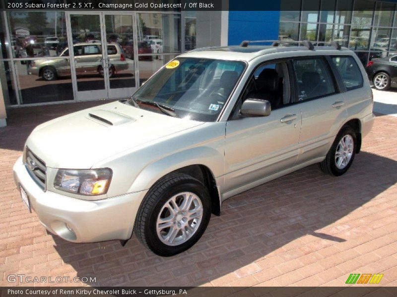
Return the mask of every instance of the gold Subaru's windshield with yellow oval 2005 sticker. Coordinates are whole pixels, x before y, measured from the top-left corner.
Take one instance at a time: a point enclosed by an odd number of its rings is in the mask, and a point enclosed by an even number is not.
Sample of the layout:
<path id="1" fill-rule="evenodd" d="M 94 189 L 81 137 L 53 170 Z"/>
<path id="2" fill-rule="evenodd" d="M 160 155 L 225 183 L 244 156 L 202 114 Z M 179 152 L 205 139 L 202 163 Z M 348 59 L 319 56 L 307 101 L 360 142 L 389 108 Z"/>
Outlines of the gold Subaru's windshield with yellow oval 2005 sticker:
<path id="1" fill-rule="evenodd" d="M 241 61 L 177 58 L 160 69 L 136 93 L 136 101 L 154 101 L 181 118 L 213 122 L 245 68 Z M 140 104 L 141 108 L 148 108 Z"/>

